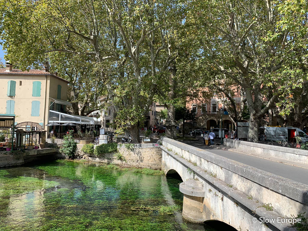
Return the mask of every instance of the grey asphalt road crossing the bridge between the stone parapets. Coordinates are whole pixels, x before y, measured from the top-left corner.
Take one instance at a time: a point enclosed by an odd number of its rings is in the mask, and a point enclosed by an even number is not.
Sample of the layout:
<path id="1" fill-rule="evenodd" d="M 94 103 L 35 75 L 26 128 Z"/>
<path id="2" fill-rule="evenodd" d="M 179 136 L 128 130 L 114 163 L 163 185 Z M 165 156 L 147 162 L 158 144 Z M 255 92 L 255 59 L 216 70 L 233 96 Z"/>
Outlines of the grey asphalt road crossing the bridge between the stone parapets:
<path id="1" fill-rule="evenodd" d="M 261 159 L 258 157 L 245 155 L 243 153 L 237 153 L 233 151 L 221 150 L 214 147 L 204 146 L 202 139 L 194 141 L 182 141 L 182 142 L 197 148 L 205 149 L 217 155 L 227 157 L 231 160 L 235 160 L 243 164 L 259 168 L 266 172 L 271 172 L 278 176 L 282 176 L 308 185 L 308 169 L 282 164 L 271 160 Z M 220 140 L 215 139 L 214 145 L 216 143 L 220 143 Z"/>

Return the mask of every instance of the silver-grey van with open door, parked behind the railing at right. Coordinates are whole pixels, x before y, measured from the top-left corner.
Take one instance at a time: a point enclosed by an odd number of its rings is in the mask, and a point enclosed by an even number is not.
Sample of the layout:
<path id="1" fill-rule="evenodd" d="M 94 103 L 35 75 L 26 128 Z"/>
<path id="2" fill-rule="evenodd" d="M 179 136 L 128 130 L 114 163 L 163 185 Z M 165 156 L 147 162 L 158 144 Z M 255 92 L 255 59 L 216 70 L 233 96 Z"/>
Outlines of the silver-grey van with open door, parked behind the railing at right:
<path id="1" fill-rule="evenodd" d="M 302 143 L 308 142 L 308 136 L 299 128 L 294 127 L 260 127 L 260 141 L 294 142 L 295 136 L 300 136 Z"/>

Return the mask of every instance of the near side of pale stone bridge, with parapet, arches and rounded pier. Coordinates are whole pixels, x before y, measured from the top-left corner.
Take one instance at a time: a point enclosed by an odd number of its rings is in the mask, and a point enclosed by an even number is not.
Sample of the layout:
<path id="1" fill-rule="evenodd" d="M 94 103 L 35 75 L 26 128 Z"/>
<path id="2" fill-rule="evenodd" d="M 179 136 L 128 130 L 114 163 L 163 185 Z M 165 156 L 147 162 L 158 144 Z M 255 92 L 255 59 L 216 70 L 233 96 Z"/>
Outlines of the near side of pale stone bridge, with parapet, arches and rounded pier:
<path id="1" fill-rule="evenodd" d="M 182 216 L 188 221 L 287 231 L 295 230 L 287 218 L 308 215 L 306 184 L 165 137 L 161 148 L 162 170 L 177 172 L 184 181 Z"/>

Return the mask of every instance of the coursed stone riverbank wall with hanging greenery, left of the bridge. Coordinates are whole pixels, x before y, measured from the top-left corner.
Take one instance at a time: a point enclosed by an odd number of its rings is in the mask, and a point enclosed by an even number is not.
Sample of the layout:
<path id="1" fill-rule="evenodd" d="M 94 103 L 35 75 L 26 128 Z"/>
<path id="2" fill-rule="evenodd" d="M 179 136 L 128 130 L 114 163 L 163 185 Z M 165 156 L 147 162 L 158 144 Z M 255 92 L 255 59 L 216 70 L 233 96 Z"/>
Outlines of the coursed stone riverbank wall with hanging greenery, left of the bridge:
<path id="1" fill-rule="evenodd" d="M 81 147 L 78 147 L 78 149 L 80 150 Z M 118 144 L 118 151 L 119 153 L 109 152 L 100 156 L 86 155 L 84 158 L 90 161 L 112 163 L 127 167 L 161 169 L 161 148 L 158 143 L 133 144 L 131 149 L 126 148 L 124 144 Z M 81 153 L 79 156 L 83 154 Z"/>

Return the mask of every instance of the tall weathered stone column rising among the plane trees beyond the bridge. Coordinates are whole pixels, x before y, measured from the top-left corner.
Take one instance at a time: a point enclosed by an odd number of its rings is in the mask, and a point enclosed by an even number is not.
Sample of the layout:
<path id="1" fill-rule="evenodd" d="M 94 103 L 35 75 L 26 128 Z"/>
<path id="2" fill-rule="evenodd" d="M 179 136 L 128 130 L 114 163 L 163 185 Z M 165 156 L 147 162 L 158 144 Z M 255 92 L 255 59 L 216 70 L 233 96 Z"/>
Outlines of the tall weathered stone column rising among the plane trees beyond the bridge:
<path id="1" fill-rule="evenodd" d="M 176 75 L 176 66 L 174 63 L 170 66 L 170 75 L 169 75 L 169 85 L 170 91 L 168 92 L 168 99 L 172 100 L 175 98 L 174 91 L 175 91 L 175 75 Z M 174 105 L 168 104 L 168 113 L 167 113 L 167 121 L 166 121 L 166 136 L 167 137 L 176 137 L 176 126 L 175 126 L 175 108 Z"/>

